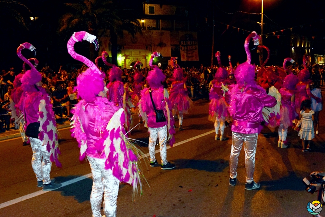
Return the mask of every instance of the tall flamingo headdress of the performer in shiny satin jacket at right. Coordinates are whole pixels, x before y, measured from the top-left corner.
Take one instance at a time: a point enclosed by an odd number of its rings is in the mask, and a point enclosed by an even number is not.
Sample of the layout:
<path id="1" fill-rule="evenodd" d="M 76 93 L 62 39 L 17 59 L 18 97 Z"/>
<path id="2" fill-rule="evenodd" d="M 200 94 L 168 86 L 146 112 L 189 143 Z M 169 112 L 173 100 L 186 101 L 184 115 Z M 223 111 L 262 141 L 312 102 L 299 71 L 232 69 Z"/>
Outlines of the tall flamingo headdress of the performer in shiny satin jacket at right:
<path id="1" fill-rule="evenodd" d="M 247 54 L 247 61 L 244 63 L 241 63 L 235 71 L 235 78 L 238 84 L 244 85 L 254 85 L 255 83 L 255 64 L 251 65 L 251 52 L 249 50 L 249 42 L 253 38 L 254 45 L 258 45 L 258 39 L 260 37 L 256 32 L 252 32 L 249 34 L 245 40 L 245 51 Z"/>

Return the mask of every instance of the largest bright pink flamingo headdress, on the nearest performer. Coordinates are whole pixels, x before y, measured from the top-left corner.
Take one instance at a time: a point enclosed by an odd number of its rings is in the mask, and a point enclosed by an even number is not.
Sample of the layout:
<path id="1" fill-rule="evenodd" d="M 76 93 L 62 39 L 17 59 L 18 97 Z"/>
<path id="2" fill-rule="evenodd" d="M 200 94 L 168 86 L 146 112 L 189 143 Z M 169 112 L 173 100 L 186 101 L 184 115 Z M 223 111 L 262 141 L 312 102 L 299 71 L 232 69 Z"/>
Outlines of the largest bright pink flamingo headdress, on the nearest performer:
<path id="1" fill-rule="evenodd" d="M 96 65 L 86 57 L 77 54 L 74 51 L 74 44 L 76 42 L 88 41 L 95 44 L 95 49 L 98 49 L 98 42 L 96 36 L 88 32 L 74 32 L 68 41 L 68 53 L 76 60 L 85 63 L 89 68 L 81 73 L 77 78 L 77 86 L 75 90 L 78 91 L 78 96 L 87 102 L 92 102 L 96 99 L 101 91 L 104 91 L 104 77 L 98 70 Z"/>

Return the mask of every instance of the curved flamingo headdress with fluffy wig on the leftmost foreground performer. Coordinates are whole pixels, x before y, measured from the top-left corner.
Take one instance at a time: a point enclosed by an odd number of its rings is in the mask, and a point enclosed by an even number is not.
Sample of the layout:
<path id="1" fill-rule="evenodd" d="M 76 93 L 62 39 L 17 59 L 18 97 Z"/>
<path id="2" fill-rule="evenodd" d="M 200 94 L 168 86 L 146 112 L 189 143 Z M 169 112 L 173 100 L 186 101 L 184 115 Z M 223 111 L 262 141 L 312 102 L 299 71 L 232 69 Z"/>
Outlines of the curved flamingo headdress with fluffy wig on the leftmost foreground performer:
<path id="1" fill-rule="evenodd" d="M 30 51 L 34 51 L 35 52 L 34 56 L 36 55 L 36 49 L 33 45 L 31 45 L 28 42 L 21 44 L 17 48 L 18 57 L 31 67 L 31 69 L 25 71 L 25 73 L 20 78 L 21 88 L 24 91 L 31 91 L 32 89 L 35 89 L 34 85 L 42 80 L 42 75 L 37 71 L 35 66 L 21 54 L 21 51 L 25 48 L 29 49 Z"/>

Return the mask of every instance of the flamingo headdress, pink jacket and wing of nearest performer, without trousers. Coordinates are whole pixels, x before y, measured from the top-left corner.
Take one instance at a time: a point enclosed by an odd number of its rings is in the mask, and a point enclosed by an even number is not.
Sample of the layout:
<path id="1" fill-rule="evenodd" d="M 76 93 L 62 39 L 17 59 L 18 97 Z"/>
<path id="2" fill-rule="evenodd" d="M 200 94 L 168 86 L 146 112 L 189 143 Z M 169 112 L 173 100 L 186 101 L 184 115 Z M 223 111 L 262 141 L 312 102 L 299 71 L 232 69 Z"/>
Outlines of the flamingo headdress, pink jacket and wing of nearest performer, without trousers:
<path id="1" fill-rule="evenodd" d="M 82 100 L 72 111 L 71 131 L 80 147 L 80 160 L 86 155 L 106 159 L 105 169 L 112 170 L 117 179 L 132 184 L 133 190 L 137 191 L 137 185 L 141 189 L 139 150 L 125 137 L 123 108 L 98 96 L 107 91 L 102 73 L 93 62 L 74 51 L 73 45 L 83 40 L 97 43 L 96 36 L 75 32 L 67 45 L 69 54 L 89 67 L 77 78 L 75 88 Z"/>

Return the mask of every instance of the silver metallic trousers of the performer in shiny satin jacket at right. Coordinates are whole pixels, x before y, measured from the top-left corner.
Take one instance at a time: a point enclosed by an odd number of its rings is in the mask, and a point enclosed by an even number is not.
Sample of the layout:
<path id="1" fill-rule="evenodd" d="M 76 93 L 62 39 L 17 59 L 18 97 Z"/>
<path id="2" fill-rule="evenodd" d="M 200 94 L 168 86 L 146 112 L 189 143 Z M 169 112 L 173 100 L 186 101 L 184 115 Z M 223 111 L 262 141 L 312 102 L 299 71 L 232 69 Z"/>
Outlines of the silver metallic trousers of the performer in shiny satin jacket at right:
<path id="1" fill-rule="evenodd" d="M 258 134 L 242 134 L 232 132 L 232 145 L 229 160 L 230 178 L 237 177 L 237 166 L 240 150 L 245 142 L 245 168 L 246 168 L 246 182 L 253 182 L 253 175 L 255 170 L 255 153 L 257 145 Z"/>

